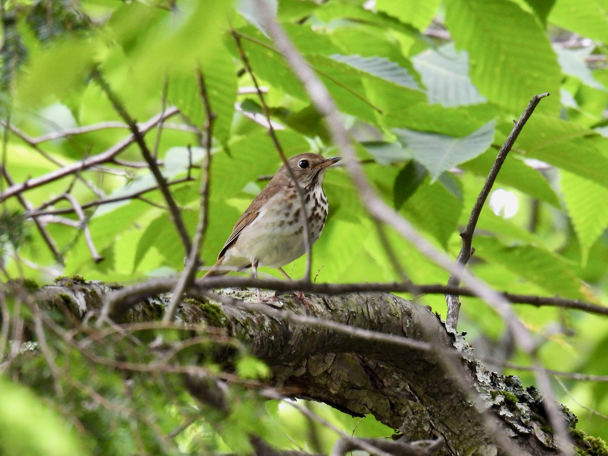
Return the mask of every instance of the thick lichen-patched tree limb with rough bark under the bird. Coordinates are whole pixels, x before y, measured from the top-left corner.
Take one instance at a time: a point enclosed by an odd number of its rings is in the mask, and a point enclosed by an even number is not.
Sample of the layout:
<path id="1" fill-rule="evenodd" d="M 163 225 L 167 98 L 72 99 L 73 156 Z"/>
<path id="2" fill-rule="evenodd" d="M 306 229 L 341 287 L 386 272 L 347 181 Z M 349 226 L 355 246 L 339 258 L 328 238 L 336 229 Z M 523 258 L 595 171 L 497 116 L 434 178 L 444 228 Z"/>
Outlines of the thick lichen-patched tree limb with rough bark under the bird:
<path id="1" fill-rule="evenodd" d="M 65 282 L 37 294 L 41 306 L 67 308 L 83 320 L 98 314 L 111 288 L 102 283 Z M 232 292 L 243 297 L 248 292 Z M 457 360 L 466 382 L 485 401 L 500 423 L 502 435 L 522 454 L 553 454 L 553 436 L 544 418 L 541 396 L 523 389 L 516 377 L 489 373 L 473 358 L 464 340 L 446 331 L 428 308 L 395 295 L 368 293 L 308 296 L 308 305 L 292 296 L 281 297 L 280 311 L 255 309 L 186 299 L 178 319 L 225 328 L 272 369 L 271 385 L 292 396 L 330 404 L 352 415 L 371 413 L 398 429 L 409 440 L 443 437 L 441 454 L 496 454 L 495 435 L 483 426 L 483 416 L 471 405 L 458 382 L 444 367 L 438 351 Z M 162 316 L 169 296 L 140 302 L 125 321 L 150 321 Z M 289 315 L 308 315 L 352 328 L 378 331 L 426 341 L 432 350 L 369 340 L 322 325 L 294 322 Z M 223 350 L 223 349 L 221 349 Z M 231 356 L 223 350 L 224 358 Z M 227 361 L 227 359 L 225 359 Z M 571 423 L 576 419 L 570 416 Z"/>

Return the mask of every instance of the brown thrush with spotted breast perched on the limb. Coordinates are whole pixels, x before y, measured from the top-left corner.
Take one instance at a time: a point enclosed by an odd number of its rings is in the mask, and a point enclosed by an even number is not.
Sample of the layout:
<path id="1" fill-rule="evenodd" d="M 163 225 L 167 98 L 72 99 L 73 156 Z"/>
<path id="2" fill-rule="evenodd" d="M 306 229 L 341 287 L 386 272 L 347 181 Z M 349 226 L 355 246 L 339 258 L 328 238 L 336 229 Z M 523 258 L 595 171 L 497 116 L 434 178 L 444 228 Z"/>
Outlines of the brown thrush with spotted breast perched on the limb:
<path id="1" fill-rule="evenodd" d="M 289 278 L 282 267 L 306 253 L 303 221 L 308 223 L 311 246 L 325 226 L 328 204 L 323 193 L 323 176 L 327 168 L 339 160 L 340 157 L 325 158 L 313 153 L 288 160 L 304 193 L 305 215 L 288 169 L 285 164 L 281 165 L 238 219 L 219 252 L 217 263 L 205 276 L 227 274 L 229 271 L 218 267 L 233 266 L 252 267 L 257 277 L 258 266 L 271 266 Z"/>

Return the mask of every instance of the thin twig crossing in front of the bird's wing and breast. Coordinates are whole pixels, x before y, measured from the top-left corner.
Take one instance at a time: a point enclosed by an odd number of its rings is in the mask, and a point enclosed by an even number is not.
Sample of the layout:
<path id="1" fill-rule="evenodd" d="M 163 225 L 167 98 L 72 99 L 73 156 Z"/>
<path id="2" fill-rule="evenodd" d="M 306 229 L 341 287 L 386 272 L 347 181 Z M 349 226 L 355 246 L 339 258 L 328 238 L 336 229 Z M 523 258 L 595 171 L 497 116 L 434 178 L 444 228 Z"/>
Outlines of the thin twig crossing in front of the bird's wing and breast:
<path id="1" fill-rule="evenodd" d="M 239 33 L 237 33 L 235 30 L 232 30 L 232 36 L 234 38 L 235 43 L 237 44 L 237 49 L 238 49 L 239 55 L 241 57 L 241 61 L 243 61 L 243 65 L 244 65 L 247 73 L 249 74 L 249 77 L 254 82 L 254 86 L 257 91 L 258 98 L 260 99 L 260 105 L 262 107 L 262 112 L 264 113 L 264 117 L 266 117 L 266 122 L 268 122 L 268 125 L 267 125 L 268 134 L 270 135 L 270 137 L 272 139 L 272 143 L 274 143 L 274 147 L 277 150 L 279 156 L 281 157 L 283 164 L 285 164 L 285 168 L 287 169 L 287 173 L 289 174 L 289 179 L 291 179 L 291 181 L 294 183 L 295 191 L 298 194 L 300 210 L 302 210 L 302 214 L 303 214 L 302 237 L 304 240 L 304 250 L 306 252 L 306 269 L 304 272 L 304 278 L 307 282 L 310 282 L 311 268 L 312 268 L 312 264 L 313 264 L 313 252 L 311 250 L 311 247 L 312 247 L 313 243 L 312 243 L 312 238 L 311 238 L 310 226 L 308 224 L 308 215 L 306 212 L 306 201 L 305 201 L 306 195 L 304 194 L 303 188 L 300 187 L 300 184 L 297 181 L 297 179 L 295 179 L 294 171 L 289 166 L 287 157 L 285 155 L 285 151 L 283 151 L 283 147 L 282 147 L 280 141 L 278 140 L 277 133 L 275 132 L 275 128 L 272 125 L 270 109 L 268 108 L 268 105 L 266 104 L 266 99 L 264 98 L 264 94 L 260 89 L 260 85 L 258 84 L 257 77 L 254 74 L 254 71 L 249 63 L 249 58 L 247 58 L 247 54 L 245 53 L 245 50 L 243 49 L 243 45 L 241 44 L 241 35 Z"/>

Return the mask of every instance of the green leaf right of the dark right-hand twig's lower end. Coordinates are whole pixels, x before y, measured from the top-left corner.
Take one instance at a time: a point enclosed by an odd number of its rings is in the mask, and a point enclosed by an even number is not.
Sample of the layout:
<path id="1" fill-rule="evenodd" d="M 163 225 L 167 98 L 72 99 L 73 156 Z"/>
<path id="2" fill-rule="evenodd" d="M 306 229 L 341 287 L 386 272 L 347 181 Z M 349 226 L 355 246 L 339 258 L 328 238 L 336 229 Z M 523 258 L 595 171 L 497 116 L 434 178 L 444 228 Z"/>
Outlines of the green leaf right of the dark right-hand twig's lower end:
<path id="1" fill-rule="evenodd" d="M 526 245 L 505 246 L 496 238 L 477 236 L 473 239 L 475 257 L 499 264 L 528 280 L 549 295 L 568 299 L 584 299 L 581 280 L 572 273 L 572 265 L 559 255 L 542 247 Z"/>

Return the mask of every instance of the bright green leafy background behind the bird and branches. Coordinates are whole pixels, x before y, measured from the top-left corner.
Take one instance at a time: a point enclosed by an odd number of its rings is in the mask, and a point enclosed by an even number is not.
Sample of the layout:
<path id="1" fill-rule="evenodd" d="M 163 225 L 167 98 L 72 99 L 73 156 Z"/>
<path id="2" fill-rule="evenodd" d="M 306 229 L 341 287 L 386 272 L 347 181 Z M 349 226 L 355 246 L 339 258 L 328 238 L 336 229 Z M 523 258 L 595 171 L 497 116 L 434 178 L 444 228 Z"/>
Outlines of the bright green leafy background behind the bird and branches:
<path id="1" fill-rule="evenodd" d="M 95 156 L 128 136 L 125 128 L 116 125 L 122 119 L 91 80 L 93 66 L 139 122 L 156 115 L 162 106 L 181 110 L 180 116 L 167 120 L 162 134 L 159 129 L 148 133 L 147 142 L 164 162 L 168 179 L 184 178 L 190 172 L 198 177 L 198 169 L 189 165 L 200 165 L 204 157 L 198 147 L 205 122 L 195 73 L 200 68 L 216 114 L 209 229 L 202 246 L 205 263 L 213 264 L 233 223 L 263 187 L 260 178 L 274 173 L 280 164 L 266 128 L 259 122 L 260 102 L 250 90 L 253 83 L 243 71 L 231 31 L 240 37 L 266 91 L 285 153 L 314 150 L 335 154 L 322 119 L 260 27 L 253 0 L 237 5 L 223 0 L 2 3 L 0 113 L 4 122 L 10 121 L 18 130 L 3 130 L 1 159 L 6 173 L 0 178 L 0 190 L 10 187 L 10 182 L 24 182 L 60 165 Z M 471 268 L 501 291 L 606 304 L 608 8 L 600 3 L 273 2 L 286 32 L 343 112 L 356 150 L 366 160 L 365 172 L 379 195 L 453 258 L 460 249 L 458 232 L 513 119 L 533 95 L 550 92 L 497 178 L 494 189 L 505 190 L 502 195 L 509 198 L 494 198 L 491 207 L 483 210 Z M 78 134 L 49 136 L 97 124 L 99 128 Z M 19 132 L 41 140 L 32 146 Z M 119 157 L 126 162 L 142 161 L 133 144 Z M 99 195 L 115 198 L 153 185 L 147 168 L 107 163 L 82 171 L 79 179 L 56 179 L 23 195 L 33 207 L 40 207 L 70 188 L 71 195 L 87 204 Z M 175 184 L 171 190 L 193 232 L 198 218 L 198 182 Z M 323 236 L 314 247 L 316 280 L 398 280 L 348 176 L 331 170 L 325 190 L 331 209 Z M 61 215 L 71 224 L 57 215 L 45 219 L 47 231 L 64 257 L 63 265 L 57 263 L 31 220 L 24 221 L 22 202 L 14 196 L 5 199 L 0 209 L 1 273 L 4 278 L 23 276 L 49 283 L 55 275 L 124 282 L 181 271 L 183 252 L 176 247 L 179 238 L 164 201 L 159 192 L 144 196 L 145 200 L 124 199 L 86 209 L 92 241 L 105 257 L 101 263 L 92 260 L 80 227 L 73 226 L 77 221 L 73 213 Z M 46 209 L 71 207 L 66 199 L 57 199 Z M 446 271 L 415 246 L 390 229 L 387 237 L 414 282 L 446 283 Z M 305 259 L 300 258 L 287 271 L 297 277 L 304 267 Z M 271 270 L 264 273 L 276 275 Z M 443 297 L 426 296 L 421 302 L 444 314 Z M 608 344 L 605 318 L 553 308 L 516 309 L 542 341 L 542 361 L 548 368 L 608 373 L 603 355 Z M 479 353 L 496 353 L 504 340 L 499 317 L 477 299 L 463 299 L 461 313 L 459 330 L 469 333 Z M 43 399 L 44 411 L 30 397 L 32 393 L 21 393 L 21 387 L 3 383 L 2 389 L 16 389 L 22 402 L 12 407 L 23 413 L 46 416 L 48 412 L 47 426 L 64 442 L 58 446 L 79 444 L 48 411 L 60 406 L 68 409 L 61 412 L 64 416 L 78 417 L 82 427 L 75 427 L 86 429 L 81 430 L 86 434 L 83 441 L 97 454 L 174 451 L 164 436 L 188 413 L 193 424 L 176 438 L 185 452 L 230 448 L 246 452 L 243 435 L 249 430 L 282 447 L 293 446 L 291 442 L 305 446 L 308 439 L 302 416 L 285 404 L 260 404 L 241 392 L 232 418 L 217 425 L 196 416 L 191 399 L 167 401 L 164 383 L 177 379 L 140 374 L 125 379 L 90 359 L 77 359 L 79 355 L 66 347 L 54 350 L 63 353 L 55 359 L 58 366 L 72 367 L 72 384 L 52 385 L 52 373 L 40 358 L 24 361 L 24 374 L 19 377 Z M 138 362 L 142 362 L 145 353 L 138 354 Z M 506 361 L 525 364 L 528 360 L 516 351 L 509 352 Z M 81 371 L 75 370 L 80 362 Z M 247 378 L 265 372 L 247 358 L 239 371 Z M 36 375 L 28 376 L 28 372 Z M 513 373 L 522 374 L 524 382 L 533 382 L 525 373 Z M 579 416 L 579 427 L 608 438 L 604 418 L 608 415 L 608 384 L 566 383 L 569 394 L 559 386 L 557 390 L 561 401 Z M 133 389 L 125 391 L 125 384 Z M 54 402 L 57 388 L 69 389 L 71 400 Z M 109 396 L 115 408 L 95 402 L 95 392 Z M 120 409 L 125 404 L 141 416 L 131 419 L 125 415 Z M 0 420 L 4 406 L 0 402 Z M 390 434 L 390 429 L 380 429 L 371 418 L 355 423 L 328 407 L 314 407 L 348 433 L 356 429 L 357 435 L 367 437 Z M 254 420 L 255 416 L 264 418 Z M 146 420 L 154 420 L 156 428 Z M 320 451 L 328 451 L 336 436 L 310 426 L 320 433 Z M 15 427 L 15 432 L 24 440 L 30 430 Z M 108 438 L 109 432 L 112 438 Z M 2 450 L 6 454 L 43 452 L 42 447 L 33 446 Z"/>

